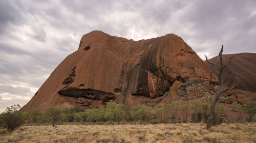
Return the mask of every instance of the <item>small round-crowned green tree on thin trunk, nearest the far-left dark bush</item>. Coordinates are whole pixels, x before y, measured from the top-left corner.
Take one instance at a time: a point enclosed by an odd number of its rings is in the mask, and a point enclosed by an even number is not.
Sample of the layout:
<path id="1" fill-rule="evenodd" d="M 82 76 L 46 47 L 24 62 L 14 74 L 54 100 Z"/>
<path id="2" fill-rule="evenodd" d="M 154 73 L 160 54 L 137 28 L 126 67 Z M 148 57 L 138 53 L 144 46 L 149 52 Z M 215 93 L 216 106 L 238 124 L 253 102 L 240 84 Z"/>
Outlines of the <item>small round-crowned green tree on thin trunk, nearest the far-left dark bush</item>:
<path id="1" fill-rule="evenodd" d="M 54 124 L 55 124 L 56 121 L 65 117 L 65 114 L 63 113 L 63 109 L 58 108 L 58 107 L 49 107 L 49 108 L 47 108 L 46 115 L 53 120 L 52 127 L 54 127 Z"/>

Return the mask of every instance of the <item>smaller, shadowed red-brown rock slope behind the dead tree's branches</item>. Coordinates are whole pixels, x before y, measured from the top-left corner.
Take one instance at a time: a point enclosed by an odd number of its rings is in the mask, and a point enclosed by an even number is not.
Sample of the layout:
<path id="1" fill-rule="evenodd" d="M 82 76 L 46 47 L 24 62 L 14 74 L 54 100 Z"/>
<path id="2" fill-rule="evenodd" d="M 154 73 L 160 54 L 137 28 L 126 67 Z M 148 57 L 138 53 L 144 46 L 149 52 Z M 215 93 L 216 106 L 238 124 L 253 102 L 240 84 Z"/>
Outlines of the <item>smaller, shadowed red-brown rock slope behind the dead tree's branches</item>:
<path id="1" fill-rule="evenodd" d="M 256 53 L 240 53 L 241 55 L 236 56 L 233 59 L 233 63 L 229 65 L 229 68 L 222 72 L 223 80 L 225 85 L 231 87 L 233 84 L 237 83 L 237 78 L 241 82 L 240 88 L 238 90 L 243 90 L 247 92 L 256 93 Z M 229 62 L 229 59 L 236 54 L 223 54 L 223 63 Z M 215 56 L 209 59 L 210 62 L 218 61 L 218 57 Z M 206 61 L 204 61 L 206 63 Z M 214 67 L 209 65 L 209 68 L 217 75 Z M 218 66 L 219 68 L 219 66 Z"/>

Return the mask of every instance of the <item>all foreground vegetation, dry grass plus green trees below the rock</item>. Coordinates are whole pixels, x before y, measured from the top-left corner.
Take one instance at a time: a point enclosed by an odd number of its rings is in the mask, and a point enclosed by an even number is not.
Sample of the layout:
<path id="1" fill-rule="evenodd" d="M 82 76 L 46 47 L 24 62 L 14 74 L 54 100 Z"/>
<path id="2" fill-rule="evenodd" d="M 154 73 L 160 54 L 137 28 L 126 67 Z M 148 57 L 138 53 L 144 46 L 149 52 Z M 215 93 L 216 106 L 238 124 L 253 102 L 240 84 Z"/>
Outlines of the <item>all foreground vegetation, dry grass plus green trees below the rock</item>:
<path id="1" fill-rule="evenodd" d="M 207 97 L 133 108 L 121 99 L 86 110 L 49 107 L 22 113 L 13 105 L 0 115 L 0 142 L 256 142 L 256 101 L 251 99 L 232 104 L 238 123 L 227 122 L 227 109 L 217 103 L 208 130 Z"/>

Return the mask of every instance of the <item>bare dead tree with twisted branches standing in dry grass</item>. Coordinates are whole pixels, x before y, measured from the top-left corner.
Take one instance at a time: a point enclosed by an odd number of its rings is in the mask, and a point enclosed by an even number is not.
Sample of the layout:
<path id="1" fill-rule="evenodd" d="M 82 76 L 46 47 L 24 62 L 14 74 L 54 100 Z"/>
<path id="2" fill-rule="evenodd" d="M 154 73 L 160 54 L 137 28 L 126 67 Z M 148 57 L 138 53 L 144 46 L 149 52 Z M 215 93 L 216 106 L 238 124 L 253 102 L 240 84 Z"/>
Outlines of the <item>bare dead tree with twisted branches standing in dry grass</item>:
<path id="1" fill-rule="evenodd" d="M 238 88 L 238 87 L 239 87 L 238 84 L 240 83 L 239 80 L 238 80 L 238 78 L 237 78 L 237 83 L 234 84 L 231 88 L 222 89 L 222 88 L 223 88 L 223 79 L 222 79 L 222 75 L 221 75 L 221 74 L 222 74 L 223 70 L 230 69 L 230 68 L 228 68 L 228 65 L 233 62 L 232 59 L 235 58 L 236 56 L 240 55 L 240 54 L 237 54 L 237 55 L 232 56 L 232 57 L 229 59 L 229 62 L 228 62 L 226 65 L 224 65 L 224 64 L 223 64 L 223 61 L 222 61 L 222 52 L 223 52 L 223 45 L 222 45 L 222 48 L 221 48 L 221 50 L 220 50 L 220 52 L 219 52 L 219 56 L 218 56 L 218 61 L 217 61 L 217 62 L 210 62 L 210 61 L 208 61 L 207 56 L 205 55 L 206 62 L 207 62 L 208 64 L 214 66 L 214 69 L 215 69 L 215 71 L 217 72 L 218 82 L 219 82 L 219 89 L 218 89 L 218 90 L 215 89 L 215 88 L 214 88 L 214 84 L 212 84 L 212 72 L 211 72 L 211 74 L 210 74 L 210 79 L 207 80 L 207 81 L 209 82 L 209 85 L 208 85 L 208 84 L 205 84 L 205 83 L 202 81 L 202 79 L 201 79 L 200 76 L 196 73 L 196 71 L 195 71 L 195 69 L 194 69 L 193 67 L 187 67 L 187 68 L 189 68 L 189 69 L 193 69 L 193 71 L 194 71 L 194 73 L 190 73 L 190 74 L 196 75 L 196 76 L 199 78 L 199 80 L 200 80 L 200 82 L 201 82 L 202 85 L 204 85 L 205 87 L 210 88 L 210 89 L 211 89 L 212 91 L 214 91 L 215 94 L 216 94 L 216 96 L 214 97 L 214 100 L 211 101 L 210 112 L 209 112 L 209 116 L 208 116 L 208 120 L 207 120 L 207 124 L 206 124 L 206 129 L 210 129 L 210 127 L 212 126 L 213 119 L 214 119 L 215 105 L 216 105 L 217 101 L 219 100 L 219 98 L 222 96 L 222 93 L 224 93 L 224 92 L 226 92 L 226 91 L 229 91 L 229 90 L 233 90 L 233 89 L 235 89 L 235 88 Z M 220 66 L 220 69 L 217 68 L 217 64 L 218 64 L 218 63 L 220 63 L 220 65 L 221 65 L 221 66 Z"/>

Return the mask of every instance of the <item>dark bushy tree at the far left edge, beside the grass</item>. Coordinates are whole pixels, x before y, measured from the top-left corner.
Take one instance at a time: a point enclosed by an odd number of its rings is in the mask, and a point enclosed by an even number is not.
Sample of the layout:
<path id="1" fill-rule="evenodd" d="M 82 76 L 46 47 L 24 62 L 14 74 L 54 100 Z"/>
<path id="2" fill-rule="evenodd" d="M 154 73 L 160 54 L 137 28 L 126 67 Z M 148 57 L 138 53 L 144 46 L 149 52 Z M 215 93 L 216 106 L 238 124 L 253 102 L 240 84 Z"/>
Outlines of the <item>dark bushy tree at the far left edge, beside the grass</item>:
<path id="1" fill-rule="evenodd" d="M 0 126 L 6 128 L 8 132 L 12 132 L 15 128 L 23 124 L 22 112 L 18 111 L 19 104 L 7 107 L 6 111 L 0 115 Z"/>

